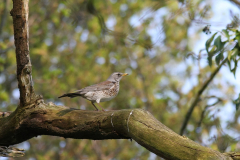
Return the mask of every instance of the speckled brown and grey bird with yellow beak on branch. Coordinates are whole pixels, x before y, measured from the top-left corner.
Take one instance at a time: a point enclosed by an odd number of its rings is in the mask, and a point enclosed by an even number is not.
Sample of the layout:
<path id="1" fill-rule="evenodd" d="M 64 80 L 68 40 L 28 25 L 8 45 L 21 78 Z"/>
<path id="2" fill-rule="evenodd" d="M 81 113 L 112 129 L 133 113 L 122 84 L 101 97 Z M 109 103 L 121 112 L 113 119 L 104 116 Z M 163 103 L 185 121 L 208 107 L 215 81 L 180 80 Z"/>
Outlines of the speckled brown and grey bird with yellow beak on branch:
<path id="1" fill-rule="evenodd" d="M 99 111 L 94 103 L 99 104 L 100 102 L 110 101 L 111 99 L 116 97 L 119 92 L 119 82 L 122 79 L 122 77 L 126 75 L 128 74 L 114 72 L 108 77 L 106 81 L 82 88 L 72 93 L 65 93 L 58 98 L 62 98 L 62 97 L 74 98 L 74 97 L 80 96 L 91 101 L 95 109 Z M 102 108 L 101 105 L 100 107 Z M 102 111 L 105 111 L 105 110 L 102 108 Z"/>

